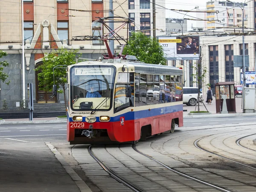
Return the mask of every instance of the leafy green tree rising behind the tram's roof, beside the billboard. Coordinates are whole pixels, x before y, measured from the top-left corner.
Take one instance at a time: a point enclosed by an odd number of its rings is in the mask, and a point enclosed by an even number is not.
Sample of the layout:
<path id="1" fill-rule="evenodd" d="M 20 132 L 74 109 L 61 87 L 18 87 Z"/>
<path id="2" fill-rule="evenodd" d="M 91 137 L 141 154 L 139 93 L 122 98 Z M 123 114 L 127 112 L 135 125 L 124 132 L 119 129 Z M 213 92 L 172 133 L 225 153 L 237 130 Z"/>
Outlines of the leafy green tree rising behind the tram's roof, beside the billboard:
<path id="1" fill-rule="evenodd" d="M 150 64 L 166 64 L 163 47 L 155 38 L 148 37 L 142 32 L 132 32 L 125 46 L 124 55 L 134 55 L 138 60 Z"/>

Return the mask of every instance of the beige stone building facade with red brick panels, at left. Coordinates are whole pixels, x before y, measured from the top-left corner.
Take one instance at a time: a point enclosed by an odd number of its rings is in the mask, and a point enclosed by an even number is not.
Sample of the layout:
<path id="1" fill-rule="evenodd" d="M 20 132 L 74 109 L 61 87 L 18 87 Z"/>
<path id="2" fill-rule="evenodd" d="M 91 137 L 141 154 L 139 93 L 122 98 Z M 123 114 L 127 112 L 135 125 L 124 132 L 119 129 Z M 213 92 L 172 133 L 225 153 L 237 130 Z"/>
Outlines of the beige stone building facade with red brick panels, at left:
<path id="1" fill-rule="evenodd" d="M 120 6 L 122 4 L 122 6 Z M 9 62 L 4 69 L 8 74 L 9 85 L 0 82 L 0 108 L 6 99 L 10 109 L 16 109 L 17 103 L 25 97 L 27 84 L 33 84 L 34 102 L 64 102 L 62 95 L 52 98 L 52 93 L 45 93 L 38 87 L 35 68 L 42 64 L 42 58 L 53 49 L 79 49 L 83 58 L 98 59 L 107 52 L 105 44 L 99 40 L 73 41 L 74 36 L 99 36 L 101 25 L 93 21 L 99 17 L 108 17 L 109 1 L 104 0 L 17 0 L 0 1 L 0 50 L 8 55 L 1 58 Z M 127 17 L 128 2 L 113 2 L 114 16 Z M 22 28 L 24 18 L 24 33 Z M 119 26 L 118 23 L 114 27 Z M 103 33 L 108 32 L 103 28 Z M 24 34 L 24 60 L 22 42 Z M 118 34 L 126 37 L 127 29 Z M 114 41 L 115 49 L 119 43 Z M 124 43 L 124 42 L 123 42 Z M 119 50 L 117 50 L 118 52 Z M 25 93 L 25 94 L 24 94 Z"/>

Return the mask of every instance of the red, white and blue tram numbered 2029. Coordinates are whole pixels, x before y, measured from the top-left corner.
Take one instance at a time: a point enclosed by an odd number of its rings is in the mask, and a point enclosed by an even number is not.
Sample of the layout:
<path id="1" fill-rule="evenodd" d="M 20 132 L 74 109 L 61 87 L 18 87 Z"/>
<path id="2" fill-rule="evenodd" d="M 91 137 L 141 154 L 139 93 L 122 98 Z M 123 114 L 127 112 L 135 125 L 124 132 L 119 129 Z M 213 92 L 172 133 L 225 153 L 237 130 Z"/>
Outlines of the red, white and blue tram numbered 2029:
<path id="1" fill-rule="evenodd" d="M 128 58 L 68 66 L 70 144 L 135 144 L 183 126 L 183 71 Z"/>

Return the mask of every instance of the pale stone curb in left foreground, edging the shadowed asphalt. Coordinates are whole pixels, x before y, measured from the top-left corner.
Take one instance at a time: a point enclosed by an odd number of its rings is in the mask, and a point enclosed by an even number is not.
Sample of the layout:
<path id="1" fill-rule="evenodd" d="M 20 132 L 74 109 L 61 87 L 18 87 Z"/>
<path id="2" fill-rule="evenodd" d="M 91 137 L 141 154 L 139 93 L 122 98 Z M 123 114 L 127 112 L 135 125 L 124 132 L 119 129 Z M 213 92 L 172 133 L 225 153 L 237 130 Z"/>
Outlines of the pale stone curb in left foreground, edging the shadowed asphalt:
<path id="1" fill-rule="evenodd" d="M 87 186 L 86 183 L 77 175 L 77 173 L 70 167 L 70 165 L 64 160 L 60 152 L 49 142 L 45 142 L 45 144 L 49 147 L 52 153 L 55 155 L 56 159 L 61 163 L 61 166 L 65 169 L 65 171 L 70 175 L 72 180 L 76 183 L 76 186 L 79 188 L 81 192 L 92 192 L 92 190 Z"/>

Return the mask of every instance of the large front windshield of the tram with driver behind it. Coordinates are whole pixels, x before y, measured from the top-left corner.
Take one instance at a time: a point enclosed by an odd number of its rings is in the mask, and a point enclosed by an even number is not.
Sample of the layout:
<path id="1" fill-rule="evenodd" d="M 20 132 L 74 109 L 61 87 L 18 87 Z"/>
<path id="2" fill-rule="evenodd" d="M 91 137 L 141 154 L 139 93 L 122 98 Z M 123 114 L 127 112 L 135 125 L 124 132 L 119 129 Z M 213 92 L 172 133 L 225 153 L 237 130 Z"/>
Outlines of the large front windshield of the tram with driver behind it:
<path id="1" fill-rule="evenodd" d="M 73 110 L 109 110 L 112 105 L 115 73 L 113 66 L 71 67 L 70 103 Z"/>

